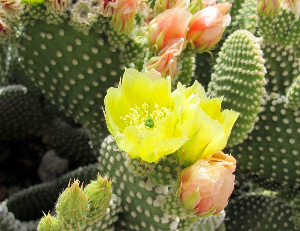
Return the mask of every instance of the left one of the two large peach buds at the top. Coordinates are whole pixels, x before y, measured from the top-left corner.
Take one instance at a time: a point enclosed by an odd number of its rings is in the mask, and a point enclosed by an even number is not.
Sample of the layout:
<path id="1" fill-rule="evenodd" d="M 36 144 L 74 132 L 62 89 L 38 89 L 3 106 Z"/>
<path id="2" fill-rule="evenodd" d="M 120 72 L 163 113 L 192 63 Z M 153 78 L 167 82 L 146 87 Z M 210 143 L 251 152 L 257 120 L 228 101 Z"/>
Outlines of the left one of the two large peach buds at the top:
<path id="1" fill-rule="evenodd" d="M 150 46 L 161 51 L 171 40 L 185 38 L 191 17 L 190 12 L 180 7 L 160 13 L 149 23 L 148 42 Z"/>

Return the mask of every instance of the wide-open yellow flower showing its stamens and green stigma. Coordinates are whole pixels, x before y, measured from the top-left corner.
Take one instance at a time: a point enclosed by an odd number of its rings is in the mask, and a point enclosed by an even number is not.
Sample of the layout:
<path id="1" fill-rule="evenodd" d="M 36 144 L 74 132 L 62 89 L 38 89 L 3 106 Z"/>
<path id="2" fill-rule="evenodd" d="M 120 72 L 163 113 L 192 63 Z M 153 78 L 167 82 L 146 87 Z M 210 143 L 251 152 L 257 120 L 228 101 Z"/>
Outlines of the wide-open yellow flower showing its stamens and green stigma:
<path id="1" fill-rule="evenodd" d="M 104 99 L 105 120 L 120 149 L 130 158 L 157 162 L 178 150 L 187 137 L 176 129 L 178 108 L 171 109 L 171 80 L 154 70 L 126 69 L 122 84 L 111 87 Z"/>

